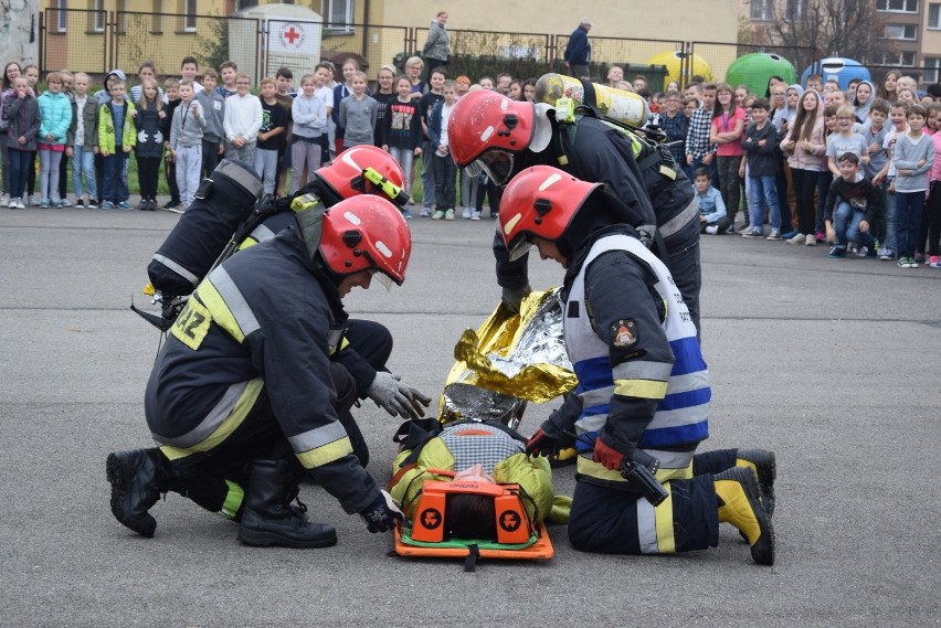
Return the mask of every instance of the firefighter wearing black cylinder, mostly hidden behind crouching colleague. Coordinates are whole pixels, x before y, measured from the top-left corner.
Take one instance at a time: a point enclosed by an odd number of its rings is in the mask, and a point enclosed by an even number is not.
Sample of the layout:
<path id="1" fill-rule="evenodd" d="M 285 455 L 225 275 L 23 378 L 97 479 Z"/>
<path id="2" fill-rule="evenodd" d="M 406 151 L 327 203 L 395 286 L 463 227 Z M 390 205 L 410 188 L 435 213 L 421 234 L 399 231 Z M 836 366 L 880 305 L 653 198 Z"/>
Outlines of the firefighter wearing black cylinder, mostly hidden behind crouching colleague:
<path id="1" fill-rule="evenodd" d="M 159 322 L 169 327 L 186 302 L 184 297 L 211 268 L 236 251 L 271 240 L 289 226 L 297 228 L 299 217 L 315 216 L 316 220 L 318 211 L 360 194 L 374 194 L 404 205 L 408 194 L 402 192 L 403 182 L 402 168 L 389 153 L 361 146 L 342 152 L 334 163 L 320 168 L 297 194 L 277 200 L 258 199 L 262 187 L 254 172 L 240 162 L 224 160 L 211 179 L 205 180 L 197 200 L 148 266 L 151 284 L 165 304 L 165 315 Z M 414 402 L 427 405 L 430 400 L 388 372 L 385 364 L 391 353 L 392 334 L 385 327 L 374 321 L 349 319 L 330 361 L 352 375 L 355 398 L 370 397 L 392 416 L 419 418 L 424 412 Z M 348 380 L 335 382 L 339 392 Z M 336 409 L 355 455 L 366 467 L 369 447 L 349 405 L 340 403 Z"/>

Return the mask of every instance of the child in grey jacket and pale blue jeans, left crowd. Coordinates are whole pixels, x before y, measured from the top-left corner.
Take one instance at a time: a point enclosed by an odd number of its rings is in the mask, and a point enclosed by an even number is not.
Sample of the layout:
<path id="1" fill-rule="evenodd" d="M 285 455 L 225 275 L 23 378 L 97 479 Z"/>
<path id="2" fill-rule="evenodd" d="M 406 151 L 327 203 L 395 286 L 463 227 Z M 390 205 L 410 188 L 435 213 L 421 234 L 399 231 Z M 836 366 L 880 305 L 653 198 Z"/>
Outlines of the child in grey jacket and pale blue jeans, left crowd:
<path id="1" fill-rule="evenodd" d="M 173 151 L 177 187 L 180 189 L 180 206 L 175 213 L 182 213 L 190 206 L 199 188 L 204 128 L 205 115 L 195 99 L 192 82 L 180 81 L 180 106 L 173 111 L 170 126 L 170 150 Z"/>

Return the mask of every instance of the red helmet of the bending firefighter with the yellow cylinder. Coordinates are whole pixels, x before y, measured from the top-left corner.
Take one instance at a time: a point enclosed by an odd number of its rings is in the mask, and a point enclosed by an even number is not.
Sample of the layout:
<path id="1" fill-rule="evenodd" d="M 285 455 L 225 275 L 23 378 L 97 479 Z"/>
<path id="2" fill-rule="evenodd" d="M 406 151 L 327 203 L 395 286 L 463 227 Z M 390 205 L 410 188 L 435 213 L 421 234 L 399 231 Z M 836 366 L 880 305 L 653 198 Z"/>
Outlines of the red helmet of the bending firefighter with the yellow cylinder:
<path id="1" fill-rule="evenodd" d="M 537 124 L 536 106 L 511 100 L 490 89 L 462 96 L 447 121 L 454 162 L 477 177 L 486 170 L 498 185 L 512 174 L 514 153 L 529 146 L 542 150 L 551 138 L 551 126 Z"/>

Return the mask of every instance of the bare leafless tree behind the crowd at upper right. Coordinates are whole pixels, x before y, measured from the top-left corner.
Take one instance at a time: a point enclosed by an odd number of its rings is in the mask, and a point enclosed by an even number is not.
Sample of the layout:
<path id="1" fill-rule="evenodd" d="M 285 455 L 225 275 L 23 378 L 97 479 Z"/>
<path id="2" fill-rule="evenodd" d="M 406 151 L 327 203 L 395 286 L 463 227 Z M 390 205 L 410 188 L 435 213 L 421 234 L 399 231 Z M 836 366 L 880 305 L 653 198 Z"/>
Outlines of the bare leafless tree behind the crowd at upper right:
<path id="1" fill-rule="evenodd" d="M 761 0 L 752 0 L 761 2 Z M 892 52 L 886 19 L 874 0 L 764 0 L 773 20 L 758 26 L 752 43 L 816 49 L 816 56 L 845 56 L 861 63 L 876 51 Z M 813 60 L 797 60 L 803 67 Z"/>

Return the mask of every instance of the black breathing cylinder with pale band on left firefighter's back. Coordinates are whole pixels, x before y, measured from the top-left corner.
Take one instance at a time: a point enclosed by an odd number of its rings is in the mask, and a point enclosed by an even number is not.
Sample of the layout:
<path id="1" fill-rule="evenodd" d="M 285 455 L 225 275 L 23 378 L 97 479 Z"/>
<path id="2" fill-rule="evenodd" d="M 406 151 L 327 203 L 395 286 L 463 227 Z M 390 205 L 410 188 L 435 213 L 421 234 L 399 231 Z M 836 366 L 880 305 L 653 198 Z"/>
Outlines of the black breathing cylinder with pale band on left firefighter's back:
<path id="1" fill-rule="evenodd" d="M 180 222 L 157 249 L 147 275 L 163 296 L 191 294 L 264 191 L 246 163 L 223 159 L 204 179 Z"/>

